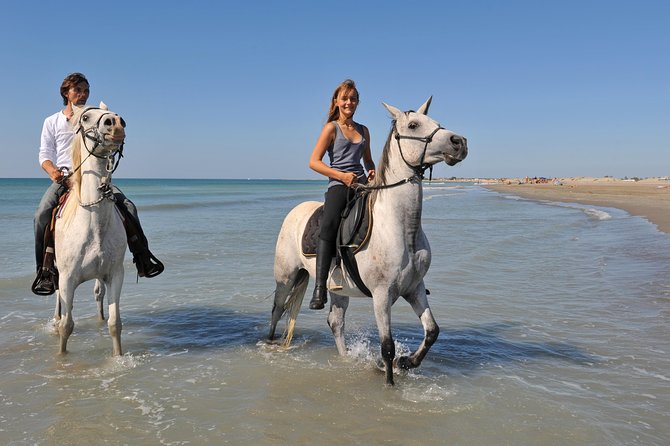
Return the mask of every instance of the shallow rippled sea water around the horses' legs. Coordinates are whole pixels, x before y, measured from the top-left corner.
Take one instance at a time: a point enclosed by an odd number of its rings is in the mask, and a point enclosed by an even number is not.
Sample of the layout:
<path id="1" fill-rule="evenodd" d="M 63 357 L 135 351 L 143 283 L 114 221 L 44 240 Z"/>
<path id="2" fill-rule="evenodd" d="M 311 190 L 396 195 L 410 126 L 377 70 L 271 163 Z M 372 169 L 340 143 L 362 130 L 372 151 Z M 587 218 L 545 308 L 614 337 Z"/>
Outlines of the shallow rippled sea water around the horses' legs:
<path id="1" fill-rule="evenodd" d="M 427 185 L 440 338 L 386 388 L 367 299 L 352 299 L 347 357 L 325 311 L 306 303 L 290 350 L 262 342 L 279 226 L 323 183 L 118 184 L 166 271 L 136 282 L 127 256 L 125 354 L 112 358 L 91 283 L 78 290 L 69 353 L 56 354 L 53 298 L 29 291 L 46 183 L 0 180 L 1 444 L 670 441 L 670 237 L 639 217 Z M 421 341 L 404 301 L 393 334 L 399 351 Z"/>

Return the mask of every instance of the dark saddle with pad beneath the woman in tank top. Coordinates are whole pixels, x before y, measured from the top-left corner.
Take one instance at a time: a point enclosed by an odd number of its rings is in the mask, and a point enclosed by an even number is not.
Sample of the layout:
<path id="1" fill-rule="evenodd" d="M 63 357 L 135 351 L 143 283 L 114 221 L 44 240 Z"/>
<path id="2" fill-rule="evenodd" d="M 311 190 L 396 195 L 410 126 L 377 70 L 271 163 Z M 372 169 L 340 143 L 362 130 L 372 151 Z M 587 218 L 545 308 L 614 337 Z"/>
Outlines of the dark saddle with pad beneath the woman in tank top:
<path id="1" fill-rule="evenodd" d="M 328 288 L 333 291 L 346 287 L 354 294 L 358 291 L 372 297 L 361 279 L 355 258 L 355 254 L 368 243 L 372 232 L 369 203 L 370 196 L 367 192 L 357 193 L 342 211 L 337 231 L 337 256 L 328 281 Z M 302 235 L 302 253 L 305 257 L 316 256 L 322 218 L 323 206 L 319 206 L 307 221 Z"/>

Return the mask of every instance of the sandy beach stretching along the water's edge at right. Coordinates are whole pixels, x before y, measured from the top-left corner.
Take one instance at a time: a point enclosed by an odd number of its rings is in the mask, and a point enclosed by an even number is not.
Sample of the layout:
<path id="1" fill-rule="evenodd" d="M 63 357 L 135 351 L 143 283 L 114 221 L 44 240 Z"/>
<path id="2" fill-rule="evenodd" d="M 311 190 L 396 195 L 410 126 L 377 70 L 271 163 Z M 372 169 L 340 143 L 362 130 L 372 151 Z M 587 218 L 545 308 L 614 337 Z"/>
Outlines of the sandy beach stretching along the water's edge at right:
<path id="1" fill-rule="evenodd" d="M 623 209 L 646 218 L 670 234 L 670 181 L 650 178 L 627 181 L 614 178 L 558 178 L 548 183 L 525 179 L 502 180 L 485 187 L 533 200 L 592 204 Z"/>

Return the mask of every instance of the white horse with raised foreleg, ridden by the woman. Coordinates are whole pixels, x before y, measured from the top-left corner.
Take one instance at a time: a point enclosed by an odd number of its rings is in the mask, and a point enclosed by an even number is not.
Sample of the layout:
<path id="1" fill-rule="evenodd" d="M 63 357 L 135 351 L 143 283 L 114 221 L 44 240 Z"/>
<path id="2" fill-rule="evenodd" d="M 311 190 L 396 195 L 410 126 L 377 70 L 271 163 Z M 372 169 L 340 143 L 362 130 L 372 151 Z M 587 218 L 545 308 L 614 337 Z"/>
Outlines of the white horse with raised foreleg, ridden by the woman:
<path id="1" fill-rule="evenodd" d="M 430 246 L 421 227 L 423 173 L 441 161 L 453 166 L 465 159 L 468 151 L 465 138 L 426 116 L 430 102 L 431 98 L 417 112 L 402 112 L 384 104 L 392 115 L 393 126 L 376 179 L 367 186 L 373 194 L 372 231 L 367 244 L 355 256 L 360 277 L 372 293 L 387 385 L 393 385 L 394 365 L 404 369 L 418 367 L 439 334 L 423 282 L 431 260 Z M 288 310 L 285 345 L 290 343 L 309 276 L 314 276 L 316 268 L 315 259 L 302 253 L 302 235 L 310 216 L 321 204 L 314 201 L 299 204 L 282 224 L 275 252 L 276 289 L 269 342 L 274 341 L 277 323 Z M 349 297 L 339 293 L 330 292 L 328 325 L 338 352 L 346 355 L 344 317 Z M 414 353 L 396 362 L 391 306 L 399 297 L 420 318 L 424 339 Z"/>

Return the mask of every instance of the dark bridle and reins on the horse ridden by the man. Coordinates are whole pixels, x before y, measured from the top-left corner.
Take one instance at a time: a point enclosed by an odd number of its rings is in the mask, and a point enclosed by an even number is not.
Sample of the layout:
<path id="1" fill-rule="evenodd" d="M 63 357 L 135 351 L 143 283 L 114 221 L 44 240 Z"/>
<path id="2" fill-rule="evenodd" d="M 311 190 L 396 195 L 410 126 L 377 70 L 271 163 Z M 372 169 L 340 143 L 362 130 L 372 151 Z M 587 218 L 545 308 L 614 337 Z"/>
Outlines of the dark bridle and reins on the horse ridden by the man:
<path id="1" fill-rule="evenodd" d="M 103 113 L 103 114 L 100 115 L 100 117 L 98 118 L 98 120 L 95 122 L 95 124 L 93 126 L 91 126 L 91 127 L 89 127 L 88 129 L 85 130 L 82 122 L 86 120 L 85 115 L 89 110 L 102 110 L 102 109 L 99 108 L 99 107 L 87 107 L 81 113 L 81 115 L 79 116 L 79 122 L 77 123 L 77 130 L 75 131 L 75 136 L 77 134 L 82 135 L 83 144 L 84 144 L 84 147 L 86 148 L 86 151 L 88 152 L 88 156 L 86 156 L 86 158 L 84 158 L 81 161 L 81 163 L 79 163 L 79 165 L 72 172 L 67 171 L 66 175 L 67 175 L 67 177 L 69 177 L 72 174 L 74 174 L 76 171 L 81 169 L 81 166 L 84 164 L 84 162 L 86 162 L 86 160 L 88 158 L 90 158 L 91 156 L 94 156 L 95 158 L 98 158 L 98 159 L 104 159 L 104 160 L 107 161 L 107 165 L 105 166 L 105 170 L 107 172 L 107 175 L 103 176 L 100 179 L 100 186 L 98 186 L 98 190 L 100 191 L 100 196 L 98 197 L 98 199 L 94 200 L 94 201 L 90 201 L 88 203 L 82 203 L 80 201 L 79 205 L 82 206 L 82 207 L 95 206 L 96 204 L 102 202 L 104 199 L 109 199 L 111 201 L 116 200 L 114 198 L 114 192 L 113 192 L 112 186 L 111 186 L 111 177 L 112 177 L 112 174 L 119 167 L 119 162 L 121 161 L 121 158 L 123 158 L 123 144 L 124 144 L 123 141 L 121 143 L 115 144 L 116 147 L 107 155 L 100 155 L 100 154 L 95 152 L 95 150 L 98 147 L 108 147 L 108 146 L 111 145 L 107 141 L 105 141 L 104 136 L 102 134 L 100 134 L 100 132 L 98 131 L 98 126 L 100 125 L 100 121 L 106 115 L 115 115 L 115 116 L 118 116 L 118 115 L 116 115 L 114 113 L 111 113 L 111 112 Z M 121 119 L 122 125 L 125 124 L 125 122 L 123 121 L 123 118 L 120 118 L 120 119 Z M 125 127 L 125 125 L 124 125 L 124 127 Z M 93 141 L 93 147 L 88 146 L 88 141 Z M 64 178 L 66 178 L 66 177 L 64 177 Z"/>

